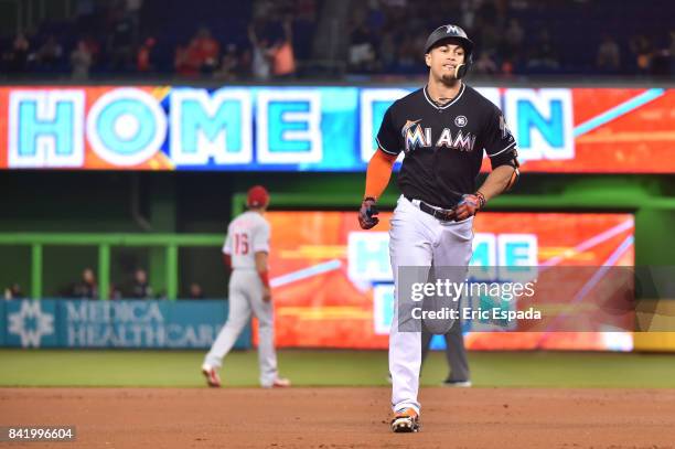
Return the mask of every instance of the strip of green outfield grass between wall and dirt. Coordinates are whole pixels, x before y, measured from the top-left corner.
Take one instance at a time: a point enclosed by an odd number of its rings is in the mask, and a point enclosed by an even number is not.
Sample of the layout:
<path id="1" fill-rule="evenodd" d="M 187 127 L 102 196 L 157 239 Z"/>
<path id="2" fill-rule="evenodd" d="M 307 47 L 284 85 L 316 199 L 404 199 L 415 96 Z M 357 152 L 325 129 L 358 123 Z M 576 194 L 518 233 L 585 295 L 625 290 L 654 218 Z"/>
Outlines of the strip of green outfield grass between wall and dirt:
<path id="1" fill-rule="evenodd" d="M 201 387 L 197 351 L 0 350 L 0 386 L 165 386 Z M 472 352 L 478 387 L 675 387 L 675 355 Z M 279 352 L 281 373 L 297 386 L 386 385 L 383 351 Z M 422 385 L 447 374 L 442 353 L 425 364 Z M 226 386 L 257 385 L 255 351 L 234 352 L 222 372 Z"/>

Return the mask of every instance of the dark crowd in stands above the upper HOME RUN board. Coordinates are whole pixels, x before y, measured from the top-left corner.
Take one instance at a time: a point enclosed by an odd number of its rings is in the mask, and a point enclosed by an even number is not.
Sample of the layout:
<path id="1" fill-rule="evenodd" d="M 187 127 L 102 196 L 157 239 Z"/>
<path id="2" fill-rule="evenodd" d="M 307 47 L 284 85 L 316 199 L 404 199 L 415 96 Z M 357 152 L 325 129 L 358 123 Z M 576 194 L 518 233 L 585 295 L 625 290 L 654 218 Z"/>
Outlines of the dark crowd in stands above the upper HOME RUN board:
<path id="1" fill-rule="evenodd" d="M 444 23 L 475 42 L 478 74 L 675 75 L 669 0 L 50 2 L 63 8 L 15 0 L 17 20 L 6 17 L 0 39 L 3 77 L 419 75 L 424 42 Z"/>

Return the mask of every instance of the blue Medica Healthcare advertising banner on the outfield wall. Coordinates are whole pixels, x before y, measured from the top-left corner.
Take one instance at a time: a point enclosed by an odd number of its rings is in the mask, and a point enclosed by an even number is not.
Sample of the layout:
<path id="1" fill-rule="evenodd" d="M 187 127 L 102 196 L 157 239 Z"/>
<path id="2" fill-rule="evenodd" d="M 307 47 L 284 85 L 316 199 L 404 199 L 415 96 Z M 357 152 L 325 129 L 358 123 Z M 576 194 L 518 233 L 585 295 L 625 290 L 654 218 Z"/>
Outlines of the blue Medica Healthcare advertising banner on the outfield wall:
<path id="1" fill-rule="evenodd" d="M 222 300 L 3 302 L 0 342 L 14 348 L 208 349 L 227 317 Z M 247 325 L 235 348 L 249 346 Z"/>

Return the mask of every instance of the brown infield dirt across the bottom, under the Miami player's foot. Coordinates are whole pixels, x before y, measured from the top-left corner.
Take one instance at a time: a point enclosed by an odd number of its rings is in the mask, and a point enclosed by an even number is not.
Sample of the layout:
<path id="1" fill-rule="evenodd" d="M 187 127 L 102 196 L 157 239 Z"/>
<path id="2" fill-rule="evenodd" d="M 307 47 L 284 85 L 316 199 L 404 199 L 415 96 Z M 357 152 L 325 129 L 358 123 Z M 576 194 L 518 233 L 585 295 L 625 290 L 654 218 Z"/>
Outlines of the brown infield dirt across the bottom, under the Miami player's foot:
<path id="1" fill-rule="evenodd" d="M 388 388 L 2 388 L 0 426 L 75 425 L 64 448 L 674 448 L 674 389 L 424 388 L 392 434 Z M 13 443 L 0 443 L 11 447 Z"/>

